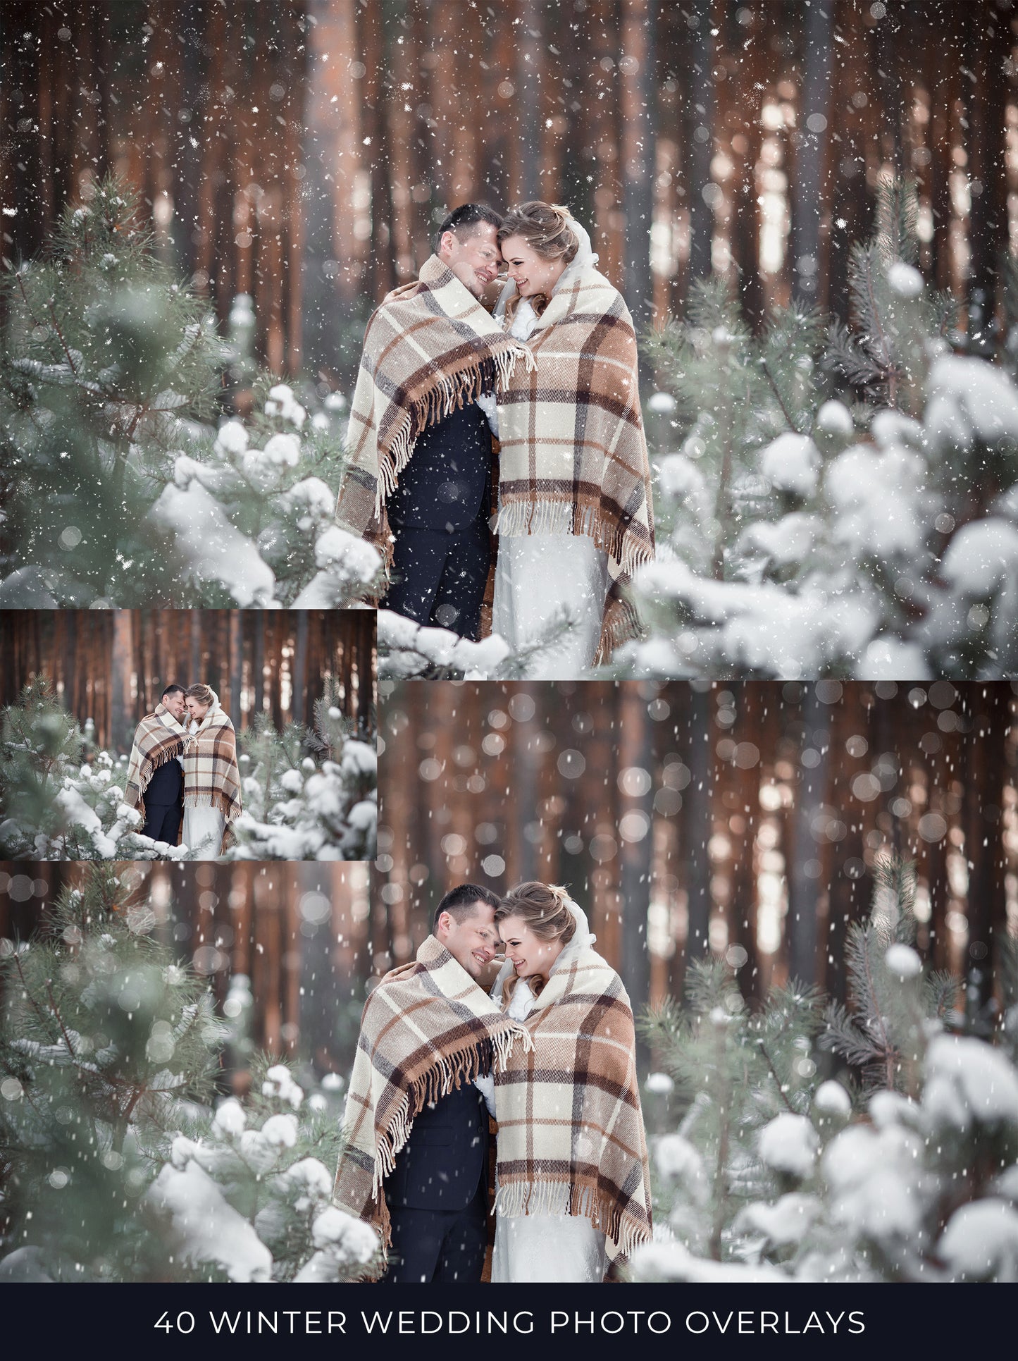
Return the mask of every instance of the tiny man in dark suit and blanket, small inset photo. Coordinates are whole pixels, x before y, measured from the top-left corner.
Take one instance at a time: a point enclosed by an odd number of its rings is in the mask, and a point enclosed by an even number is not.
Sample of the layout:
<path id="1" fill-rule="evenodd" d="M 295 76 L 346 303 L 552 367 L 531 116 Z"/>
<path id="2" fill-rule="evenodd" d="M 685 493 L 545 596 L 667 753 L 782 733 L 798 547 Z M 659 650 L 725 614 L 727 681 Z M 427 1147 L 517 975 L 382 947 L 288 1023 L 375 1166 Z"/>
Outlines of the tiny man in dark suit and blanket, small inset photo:
<path id="1" fill-rule="evenodd" d="M 147 713 L 135 729 L 131 746 L 124 802 L 142 806 L 142 836 L 176 847 L 184 817 L 184 766 L 177 759 L 184 750 L 188 712 L 182 685 L 167 685 L 154 713 Z"/>

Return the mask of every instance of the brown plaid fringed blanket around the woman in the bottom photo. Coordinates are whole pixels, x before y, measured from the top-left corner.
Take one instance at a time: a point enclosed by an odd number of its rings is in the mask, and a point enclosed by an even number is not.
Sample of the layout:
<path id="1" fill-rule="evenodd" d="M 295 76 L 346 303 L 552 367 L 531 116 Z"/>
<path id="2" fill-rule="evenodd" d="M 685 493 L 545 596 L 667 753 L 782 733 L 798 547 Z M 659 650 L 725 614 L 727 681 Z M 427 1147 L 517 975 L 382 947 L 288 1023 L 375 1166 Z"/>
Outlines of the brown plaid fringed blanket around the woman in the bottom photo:
<path id="1" fill-rule="evenodd" d="M 651 1176 L 633 1010 L 618 973 L 582 950 L 553 972 L 495 1074 L 498 1214 L 569 1213 L 604 1232 L 610 1256 L 651 1239 Z"/>

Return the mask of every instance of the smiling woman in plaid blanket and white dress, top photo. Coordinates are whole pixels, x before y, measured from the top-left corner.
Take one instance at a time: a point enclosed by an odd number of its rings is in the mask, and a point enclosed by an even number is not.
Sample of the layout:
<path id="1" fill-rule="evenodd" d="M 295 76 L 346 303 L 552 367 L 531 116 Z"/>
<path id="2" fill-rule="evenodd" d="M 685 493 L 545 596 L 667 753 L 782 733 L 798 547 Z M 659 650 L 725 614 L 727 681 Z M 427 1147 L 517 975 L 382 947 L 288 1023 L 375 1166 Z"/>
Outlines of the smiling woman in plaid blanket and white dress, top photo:
<path id="1" fill-rule="evenodd" d="M 498 397 L 491 629 L 519 651 L 568 615 L 531 679 L 576 679 L 637 632 L 622 587 L 655 551 L 636 332 L 568 208 L 520 204 L 498 244 L 509 283 L 495 317 L 536 370 L 517 365 Z"/>

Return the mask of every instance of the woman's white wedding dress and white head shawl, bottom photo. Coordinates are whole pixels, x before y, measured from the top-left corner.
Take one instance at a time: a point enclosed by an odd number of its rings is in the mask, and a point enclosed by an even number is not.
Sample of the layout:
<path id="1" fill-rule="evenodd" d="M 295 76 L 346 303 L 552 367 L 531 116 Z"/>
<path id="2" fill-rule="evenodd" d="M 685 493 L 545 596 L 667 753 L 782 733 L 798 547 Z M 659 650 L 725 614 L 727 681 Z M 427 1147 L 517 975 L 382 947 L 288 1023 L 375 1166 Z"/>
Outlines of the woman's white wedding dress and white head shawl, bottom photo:
<path id="1" fill-rule="evenodd" d="M 573 906 L 578 925 L 576 935 L 562 950 L 551 968 L 554 973 L 561 965 L 569 965 L 581 949 L 595 938 L 587 925 L 582 909 Z M 512 972 L 512 969 L 509 970 Z M 505 970 L 504 970 L 505 973 Z M 502 985 L 499 974 L 495 988 Z M 513 988 L 506 1015 L 523 1021 L 531 1011 L 535 998 L 521 979 Z M 494 1079 L 475 1078 L 485 1096 L 489 1111 L 494 1116 Z M 495 1217 L 495 1251 L 491 1259 L 491 1282 L 533 1283 L 533 1282 L 600 1282 L 607 1271 L 604 1234 L 582 1215 L 569 1214 L 569 1188 L 561 1191 L 562 1209 L 551 1214 L 521 1214 Z"/>

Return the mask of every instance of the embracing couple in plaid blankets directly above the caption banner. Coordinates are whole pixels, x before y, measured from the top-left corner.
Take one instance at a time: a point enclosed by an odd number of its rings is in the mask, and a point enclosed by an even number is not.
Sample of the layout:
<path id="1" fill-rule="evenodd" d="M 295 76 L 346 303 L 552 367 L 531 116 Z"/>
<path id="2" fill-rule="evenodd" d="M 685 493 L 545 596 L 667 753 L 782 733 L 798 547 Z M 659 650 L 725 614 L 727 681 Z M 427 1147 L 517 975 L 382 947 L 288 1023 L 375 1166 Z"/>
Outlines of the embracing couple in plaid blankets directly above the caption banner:
<path id="1" fill-rule="evenodd" d="M 603 1281 L 649 1240 L 633 1013 L 593 940 L 565 889 L 461 885 L 372 992 L 336 1200 L 387 1245 L 387 1281 L 480 1281 L 490 1213 L 493 1282 Z"/>

